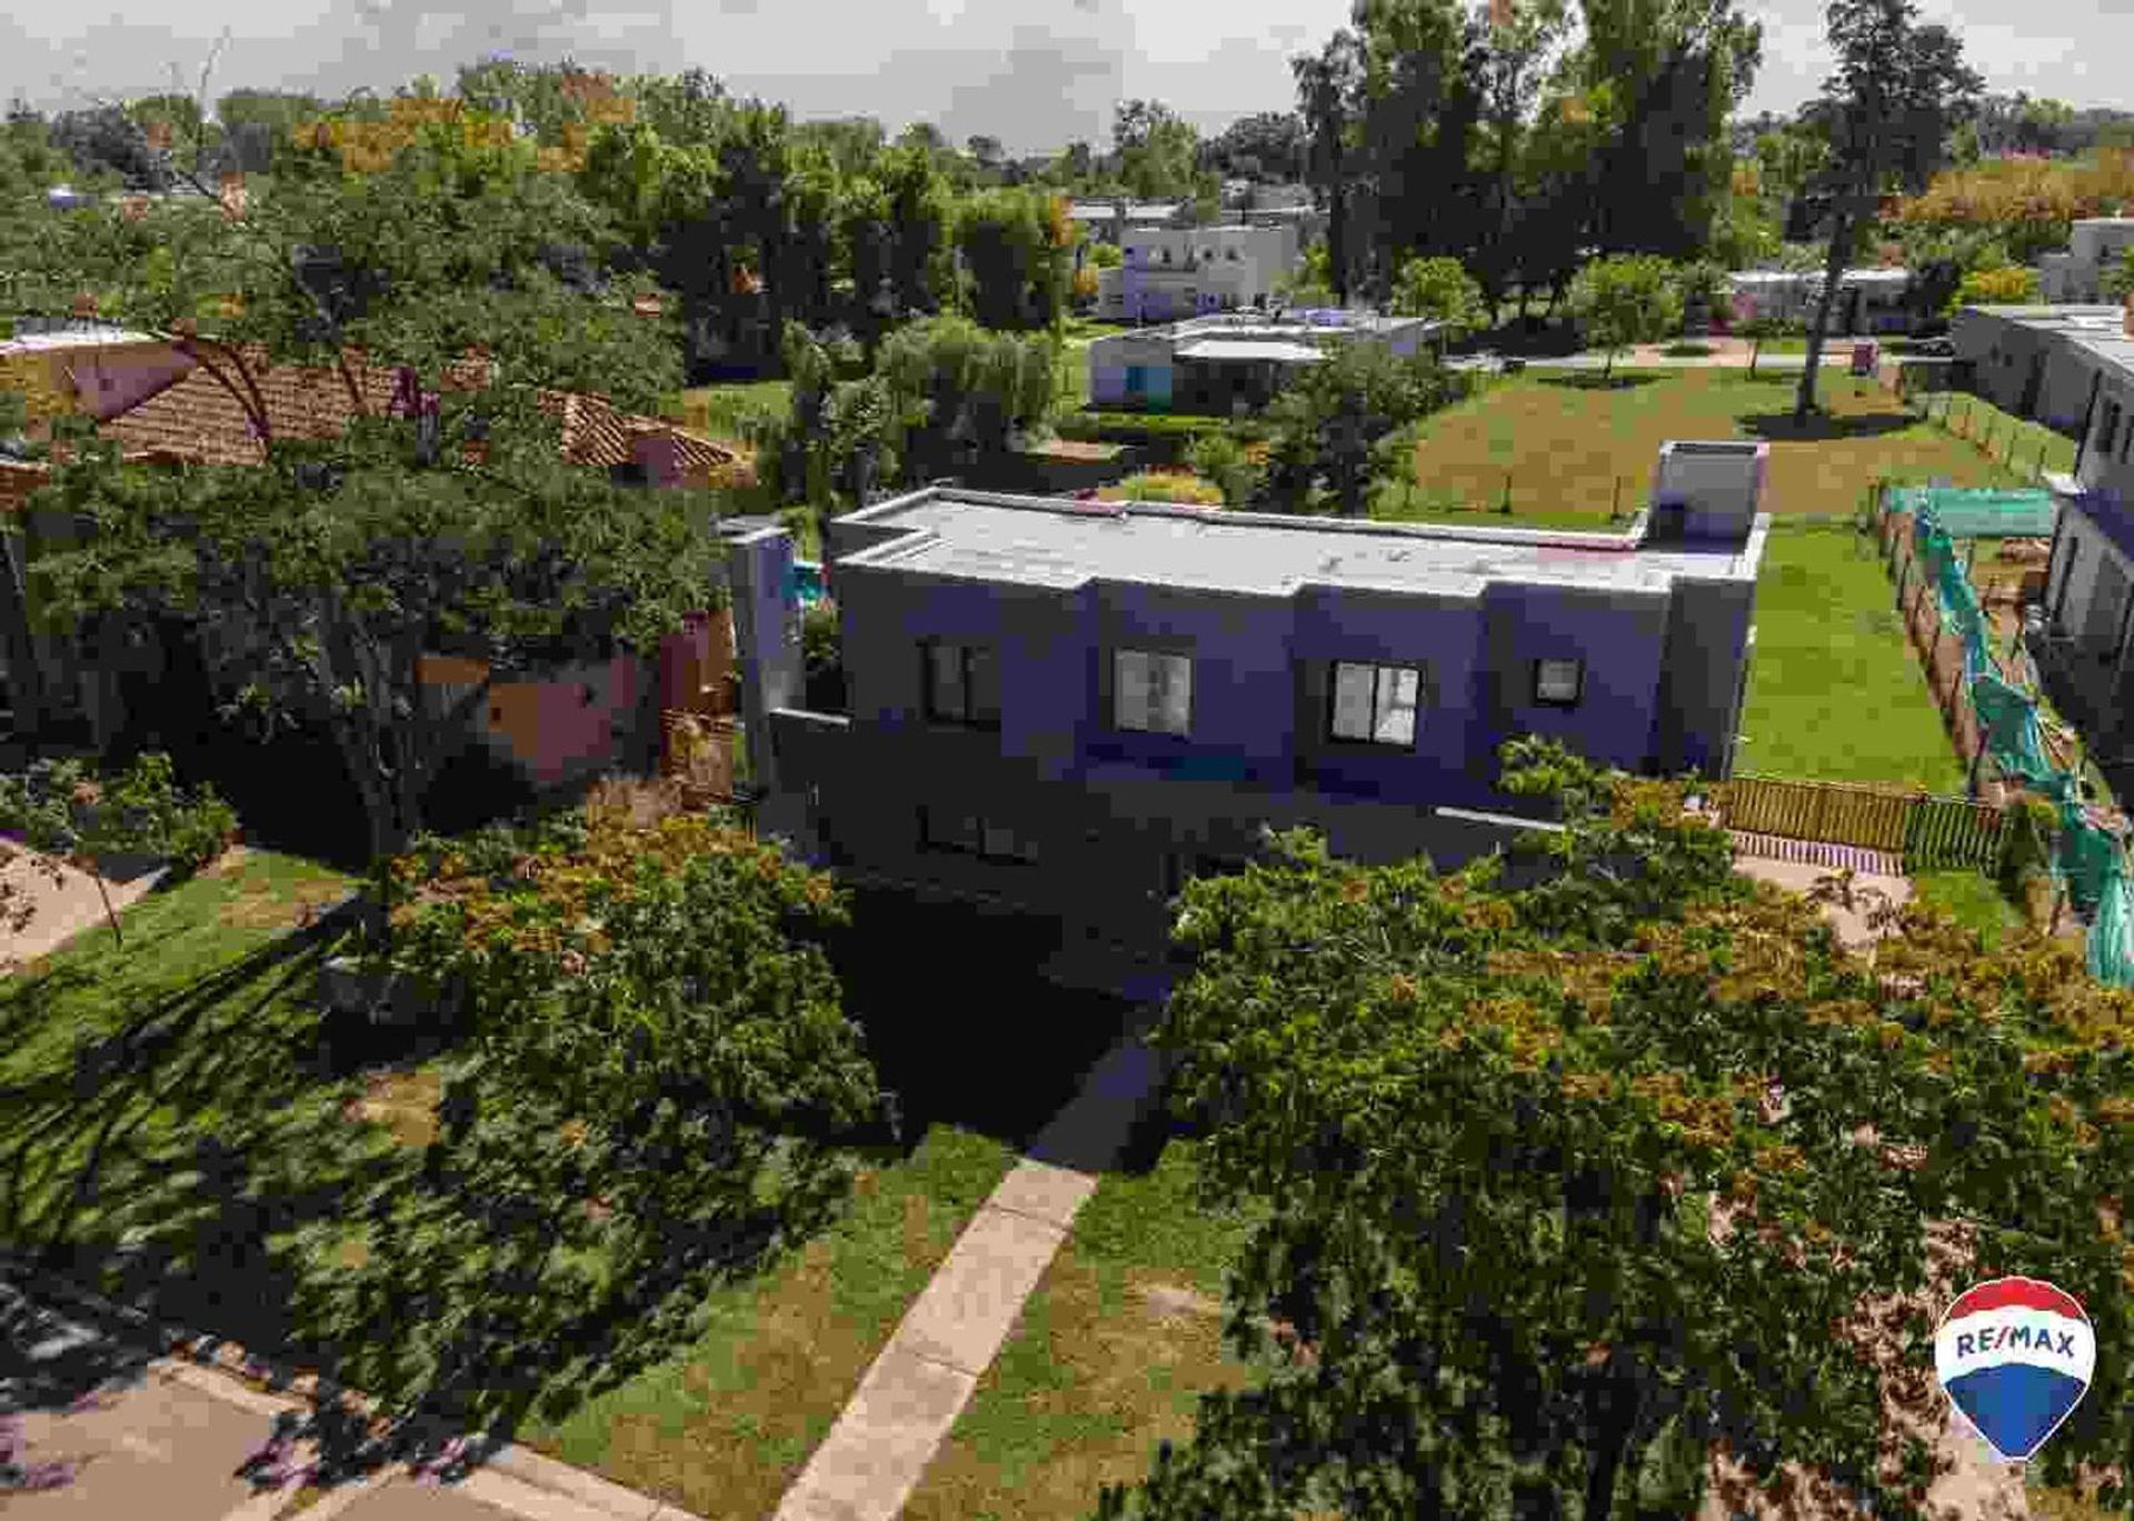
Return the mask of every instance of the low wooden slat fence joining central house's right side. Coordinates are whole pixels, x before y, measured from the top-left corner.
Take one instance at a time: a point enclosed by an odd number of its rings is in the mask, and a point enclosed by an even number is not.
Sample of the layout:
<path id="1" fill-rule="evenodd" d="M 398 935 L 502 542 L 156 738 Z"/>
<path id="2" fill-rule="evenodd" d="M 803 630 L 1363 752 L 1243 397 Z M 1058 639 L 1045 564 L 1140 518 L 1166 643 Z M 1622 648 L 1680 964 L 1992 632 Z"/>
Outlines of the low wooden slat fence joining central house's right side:
<path id="1" fill-rule="evenodd" d="M 1786 776 L 1735 776 L 1716 800 L 1729 830 L 1901 855 L 1906 870 L 2000 860 L 2004 811 L 1991 802 Z"/>

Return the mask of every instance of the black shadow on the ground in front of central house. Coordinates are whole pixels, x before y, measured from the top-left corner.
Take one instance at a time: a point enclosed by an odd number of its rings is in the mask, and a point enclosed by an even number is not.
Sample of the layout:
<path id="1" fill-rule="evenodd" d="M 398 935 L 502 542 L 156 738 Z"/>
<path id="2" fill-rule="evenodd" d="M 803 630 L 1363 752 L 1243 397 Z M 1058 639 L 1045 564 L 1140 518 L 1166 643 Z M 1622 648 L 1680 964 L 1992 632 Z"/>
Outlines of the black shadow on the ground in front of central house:
<path id="1" fill-rule="evenodd" d="M 1058 943 L 1046 919 L 856 890 L 851 928 L 828 949 L 896 1094 L 901 1150 L 930 1124 L 1020 1150 L 1080 1092 L 1137 1005 L 1046 981 Z"/>

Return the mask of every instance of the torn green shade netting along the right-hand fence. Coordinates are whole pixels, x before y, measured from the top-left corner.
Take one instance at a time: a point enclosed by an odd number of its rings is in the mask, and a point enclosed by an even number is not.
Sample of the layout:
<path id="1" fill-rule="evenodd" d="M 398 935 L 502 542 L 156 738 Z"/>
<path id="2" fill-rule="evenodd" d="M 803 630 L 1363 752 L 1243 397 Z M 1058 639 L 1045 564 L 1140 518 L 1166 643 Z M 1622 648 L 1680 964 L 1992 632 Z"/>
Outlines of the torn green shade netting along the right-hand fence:
<path id="1" fill-rule="evenodd" d="M 2019 518 L 2017 508 L 2036 512 L 2042 497 L 2042 527 Z M 2006 506 L 2002 506 L 2006 503 Z M 1985 732 L 1985 749 L 2004 776 L 2014 776 L 2053 802 L 2059 815 L 2059 849 L 2053 875 L 2068 898 L 2089 919 L 2089 975 L 2134 988 L 2134 887 L 2128 885 L 2125 849 L 2119 836 L 2089 819 L 2074 772 L 2061 770 L 2044 749 L 2038 698 L 2010 683 L 1993 659 L 1991 625 L 1978 591 L 1957 559 L 1957 538 L 2034 538 L 2053 531 L 2049 491 L 1953 491 L 1944 486 L 1901 486 L 1884 493 L 1889 512 L 1912 514 L 1912 542 L 1942 608 L 1942 625 L 1963 644 L 1963 678 L 1972 708 Z M 1957 516 L 1968 531 L 1950 527 Z M 1991 523 L 1993 527 L 1978 527 Z M 2023 527 L 2010 527 L 2023 523 Z"/>

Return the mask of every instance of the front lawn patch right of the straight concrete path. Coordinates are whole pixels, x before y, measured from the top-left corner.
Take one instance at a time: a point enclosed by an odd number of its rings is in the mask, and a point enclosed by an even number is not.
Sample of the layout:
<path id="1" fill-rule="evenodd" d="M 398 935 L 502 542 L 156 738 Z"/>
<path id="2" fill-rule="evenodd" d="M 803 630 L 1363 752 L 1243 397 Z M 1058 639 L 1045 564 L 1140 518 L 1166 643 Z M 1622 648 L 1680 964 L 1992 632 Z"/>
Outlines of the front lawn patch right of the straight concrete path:
<path id="1" fill-rule="evenodd" d="M 1253 1372 L 1223 1348 L 1225 1276 L 1251 1222 L 1199 1207 L 1191 1143 L 1108 1175 L 977 1382 L 907 1521 L 1080 1521 L 1105 1483 L 1193 1434 L 1201 1391 Z"/>

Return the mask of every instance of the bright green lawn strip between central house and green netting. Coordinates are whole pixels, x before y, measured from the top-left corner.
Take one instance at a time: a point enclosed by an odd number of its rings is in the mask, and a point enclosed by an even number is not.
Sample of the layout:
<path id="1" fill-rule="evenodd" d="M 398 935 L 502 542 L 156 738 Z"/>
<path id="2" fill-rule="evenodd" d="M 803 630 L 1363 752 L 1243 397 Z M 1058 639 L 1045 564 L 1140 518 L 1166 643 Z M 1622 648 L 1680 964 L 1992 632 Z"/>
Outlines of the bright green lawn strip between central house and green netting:
<path id="1" fill-rule="evenodd" d="M 1872 538 L 1810 525 L 1771 533 L 1735 766 L 1963 791 Z"/>

